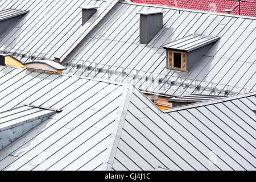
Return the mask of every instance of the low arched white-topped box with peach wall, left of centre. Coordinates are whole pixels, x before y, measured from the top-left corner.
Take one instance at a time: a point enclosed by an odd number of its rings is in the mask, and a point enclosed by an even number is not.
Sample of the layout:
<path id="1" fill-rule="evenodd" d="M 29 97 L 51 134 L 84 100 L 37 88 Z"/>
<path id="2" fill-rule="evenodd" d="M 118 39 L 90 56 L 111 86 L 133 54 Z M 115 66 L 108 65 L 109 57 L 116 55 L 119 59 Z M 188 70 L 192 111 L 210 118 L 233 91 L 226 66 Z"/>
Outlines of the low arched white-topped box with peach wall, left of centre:
<path id="1" fill-rule="evenodd" d="M 44 71 L 49 73 L 62 73 L 64 69 L 63 65 L 49 60 L 38 60 L 24 64 L 27 69 Z"/>

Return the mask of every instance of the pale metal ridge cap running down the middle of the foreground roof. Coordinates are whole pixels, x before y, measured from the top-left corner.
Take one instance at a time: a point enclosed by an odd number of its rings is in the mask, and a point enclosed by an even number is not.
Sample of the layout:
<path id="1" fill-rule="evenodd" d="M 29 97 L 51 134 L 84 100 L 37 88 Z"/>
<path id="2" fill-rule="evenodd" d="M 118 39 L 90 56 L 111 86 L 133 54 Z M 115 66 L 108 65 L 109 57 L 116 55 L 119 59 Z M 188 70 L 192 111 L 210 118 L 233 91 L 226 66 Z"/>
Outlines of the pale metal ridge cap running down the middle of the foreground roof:
<path id="1" fill-rule="evenodd" d="M 108 147 L 108 151 L 106 152 L 106 159 L 103 163 L 104 165 L 106 165 L 106 171 L 110 171 L 112 169 L 115 153 L 117 151 L 119 140 L 121 138 L 126 113 L 128 111 L 129 102 L 131 100 L 131 95 L 133 94 L 133 91 L 134 86 L 132 84 L 129 84 L 125 86 L 124 91 L 122 93 L 121 104 L 119 106 L 119 110 L 117 111 L 117 116 L 115 119 L 115 129 L 110 137 L 110 144 Z"/>

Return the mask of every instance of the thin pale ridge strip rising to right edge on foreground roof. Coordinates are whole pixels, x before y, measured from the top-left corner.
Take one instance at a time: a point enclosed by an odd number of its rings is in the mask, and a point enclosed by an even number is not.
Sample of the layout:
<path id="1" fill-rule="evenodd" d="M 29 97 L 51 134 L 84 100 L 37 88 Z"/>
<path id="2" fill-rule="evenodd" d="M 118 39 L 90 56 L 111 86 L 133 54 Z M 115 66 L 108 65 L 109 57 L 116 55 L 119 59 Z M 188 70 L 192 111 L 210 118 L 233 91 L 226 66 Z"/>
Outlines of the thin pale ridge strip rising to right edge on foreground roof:
<path id="1" fill-rule="evenodd" d="M 174 112 L 174 111 L 191 109 L 191 108 L 194 108 L 194 107 L 201 107 L 201 106 L 207 106 L 207 105 L 212 105 L 212 104 L 218 104 L 218 103 L 221 103 L 221 102 L 232 101 L 232 100 L 236 100 L 236 99 L 239 99 L 239 98 L 245 98 L 245 97 L 250 97 L 250 96 L 254 96 L 254 95 L 256 95 L 256 92 L 238 94 L 236 96 L 230 96 L 230 97 L 225 97 L 225 98 L 217 98 L 217 99 L 214 99 L 214 100 L 199 102 L 199 103 L 196 103 L 196 104 L 189 104 L 189 105 L 185 105 L 185 106 L 174 107 L 174 108 L 171 108 L 171 109 L 165 109 L 165 110 L 163 110 L 163 113 L 171 113 L 171 112 Z"/>

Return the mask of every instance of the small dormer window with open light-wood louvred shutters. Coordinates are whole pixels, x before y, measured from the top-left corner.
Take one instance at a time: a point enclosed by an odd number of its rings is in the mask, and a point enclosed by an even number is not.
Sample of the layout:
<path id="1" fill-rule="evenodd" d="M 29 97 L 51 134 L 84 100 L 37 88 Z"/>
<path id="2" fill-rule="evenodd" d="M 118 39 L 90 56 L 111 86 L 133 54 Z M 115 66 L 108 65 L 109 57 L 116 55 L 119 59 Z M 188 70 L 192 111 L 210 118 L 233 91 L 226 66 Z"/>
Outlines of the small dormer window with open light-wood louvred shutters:
<path id="1" fill-rule="evenodd" d="M 168 51 L 168 65 L 169 69 L 179 69 L 187 71 L 187 53 L 180 51 Z"/>

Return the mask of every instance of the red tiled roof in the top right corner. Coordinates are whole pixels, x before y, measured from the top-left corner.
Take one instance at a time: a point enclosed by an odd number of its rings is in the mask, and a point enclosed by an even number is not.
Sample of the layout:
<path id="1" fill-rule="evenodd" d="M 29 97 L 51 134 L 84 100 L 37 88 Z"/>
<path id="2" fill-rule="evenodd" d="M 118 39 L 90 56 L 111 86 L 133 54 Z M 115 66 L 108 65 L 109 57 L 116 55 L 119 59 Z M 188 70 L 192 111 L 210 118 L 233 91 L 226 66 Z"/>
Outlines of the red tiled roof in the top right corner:
<path id="1" fill-rule="evenodd" d="M 213 11 L 224 13 L 224 10 L 232 10 L 230 14 L 239 14 L 238 0 L 132 0 L 137 3 L 147 3 L 153 5 L 167 5 L 182 7 L 185 9 Z M 245 0 L 241 2 L 240 14 L 256 17 L 256 1 Z"/>

